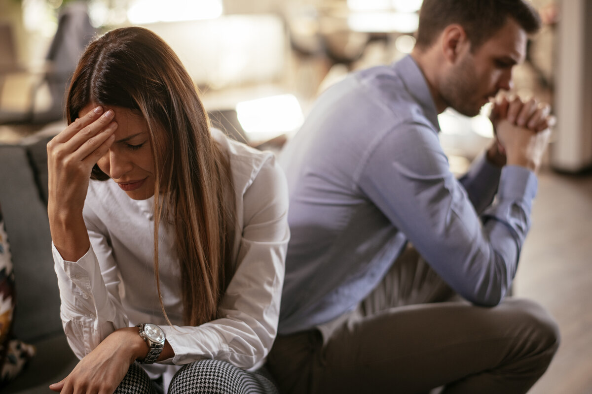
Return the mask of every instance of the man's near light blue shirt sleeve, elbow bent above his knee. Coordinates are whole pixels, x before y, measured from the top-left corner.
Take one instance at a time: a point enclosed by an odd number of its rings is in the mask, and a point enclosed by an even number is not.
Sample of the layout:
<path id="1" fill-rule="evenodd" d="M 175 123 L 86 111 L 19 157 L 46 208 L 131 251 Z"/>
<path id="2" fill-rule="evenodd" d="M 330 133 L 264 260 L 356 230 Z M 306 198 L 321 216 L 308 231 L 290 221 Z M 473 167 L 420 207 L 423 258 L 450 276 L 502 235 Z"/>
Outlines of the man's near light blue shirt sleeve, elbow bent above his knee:
<path id="1" fill-rule="evenodd" d="M 436 132 L 415 123 L 377 141 L 358 184 L 456 292 L 474 304 L 496 305 L 516 273 L 537 182 L 526 168 L 506 166 L 483 225 L 476 209 L 487 206 L 493 187 L 476 193 L 482 170 L 474 171 L 463 187 Z"/>

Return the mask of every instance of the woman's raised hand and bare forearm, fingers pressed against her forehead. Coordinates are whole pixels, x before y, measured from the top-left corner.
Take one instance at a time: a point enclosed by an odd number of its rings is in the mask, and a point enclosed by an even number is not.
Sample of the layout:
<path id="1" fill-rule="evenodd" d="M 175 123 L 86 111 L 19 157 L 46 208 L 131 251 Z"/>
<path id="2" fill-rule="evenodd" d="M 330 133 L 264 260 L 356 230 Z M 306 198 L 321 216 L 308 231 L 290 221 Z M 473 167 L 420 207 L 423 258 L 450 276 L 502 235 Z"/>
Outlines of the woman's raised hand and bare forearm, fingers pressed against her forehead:
<path id="1" fill-rule="evenodd" d="M 53 243 L 66 261 L 78 261 L 90 246 L 82 208 L 92 167 L 115 139 L 113 118 L 112 110 L 96 107 L 47 144 L 47 213 Z"/>

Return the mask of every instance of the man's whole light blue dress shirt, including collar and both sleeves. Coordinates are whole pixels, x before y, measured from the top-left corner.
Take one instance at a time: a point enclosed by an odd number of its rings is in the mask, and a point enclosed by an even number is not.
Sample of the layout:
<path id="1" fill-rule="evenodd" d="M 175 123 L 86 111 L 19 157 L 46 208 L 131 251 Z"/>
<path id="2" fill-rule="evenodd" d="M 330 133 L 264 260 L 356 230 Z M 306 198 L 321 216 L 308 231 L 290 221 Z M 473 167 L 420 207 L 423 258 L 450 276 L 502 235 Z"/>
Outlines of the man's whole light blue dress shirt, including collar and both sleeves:
<path id="1" fill-rule="evenodd" d="M 530 226 L 535 174 L 481 157 L 457 180 L 439 130 L 410 56 L 319 97 L 280 157 L 291 229 L 280 334 L 352 310 L 408 240 L 462 297 L 501 301 Z"/>

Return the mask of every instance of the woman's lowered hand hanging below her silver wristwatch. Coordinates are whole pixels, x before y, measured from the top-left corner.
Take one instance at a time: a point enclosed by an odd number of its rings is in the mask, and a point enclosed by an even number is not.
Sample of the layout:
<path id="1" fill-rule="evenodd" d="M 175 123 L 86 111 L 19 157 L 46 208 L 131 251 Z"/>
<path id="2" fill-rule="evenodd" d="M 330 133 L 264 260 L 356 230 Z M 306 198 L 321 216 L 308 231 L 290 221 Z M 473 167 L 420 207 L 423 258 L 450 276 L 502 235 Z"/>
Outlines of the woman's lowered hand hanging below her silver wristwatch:
<path id="1" fill-rule="evenodd" d="M 49 388 L 62 394 L 112 394 L 130 365 L 147 353 L 148 346 L 137 327 L 120 328 L 80 360 L 70 375 Z"/>

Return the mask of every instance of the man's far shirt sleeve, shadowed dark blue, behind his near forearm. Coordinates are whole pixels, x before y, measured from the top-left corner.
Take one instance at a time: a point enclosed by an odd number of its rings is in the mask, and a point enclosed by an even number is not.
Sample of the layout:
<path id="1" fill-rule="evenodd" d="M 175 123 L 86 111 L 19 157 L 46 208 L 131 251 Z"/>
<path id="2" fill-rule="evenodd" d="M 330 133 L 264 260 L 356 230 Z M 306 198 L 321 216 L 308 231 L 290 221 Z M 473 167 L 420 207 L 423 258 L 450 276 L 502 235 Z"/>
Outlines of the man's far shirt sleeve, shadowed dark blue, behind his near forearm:
<path id="1" fill-rule="evenodd" d="M 486 154 L 483 154 L 472 162 L 469 171 L 459 179 L 478 214 L 483 213 L 493 202 L 500 176 L 501 168 L 490 164 Z"/>

